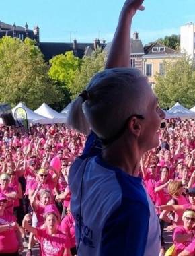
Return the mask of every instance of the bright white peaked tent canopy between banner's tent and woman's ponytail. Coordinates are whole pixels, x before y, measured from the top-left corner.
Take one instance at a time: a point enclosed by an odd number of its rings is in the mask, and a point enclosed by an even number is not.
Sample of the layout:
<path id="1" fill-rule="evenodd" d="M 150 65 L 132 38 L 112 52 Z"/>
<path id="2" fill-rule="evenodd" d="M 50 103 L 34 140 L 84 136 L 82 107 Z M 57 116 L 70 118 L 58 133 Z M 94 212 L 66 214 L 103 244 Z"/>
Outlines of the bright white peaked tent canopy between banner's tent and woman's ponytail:
<path id="1" fill-rule="evenodd" d="M 66 117 L 62 113 L 58 113 L 48 106 L 46 103 L 43 103 L 39 108 L 37 108 L 35 113 L 47 117 L 52 120 L 52 123 L 66 123 Z"/>

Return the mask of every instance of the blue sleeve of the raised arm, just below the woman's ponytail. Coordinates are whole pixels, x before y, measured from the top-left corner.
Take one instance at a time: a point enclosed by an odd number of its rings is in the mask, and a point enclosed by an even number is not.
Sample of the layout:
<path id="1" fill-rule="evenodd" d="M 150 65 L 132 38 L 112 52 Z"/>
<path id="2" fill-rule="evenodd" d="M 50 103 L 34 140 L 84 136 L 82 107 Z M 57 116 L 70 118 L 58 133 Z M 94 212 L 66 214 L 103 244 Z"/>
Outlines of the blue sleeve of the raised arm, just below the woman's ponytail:
<path id="1" fill-rule="evenodd" d="M 83 157 L 89 156 L 97 156 L 102 152 L 102 144 L 93 131 L 87 137 L 87 141 L 85 143 L 85 148 L 83 150 Z"/>

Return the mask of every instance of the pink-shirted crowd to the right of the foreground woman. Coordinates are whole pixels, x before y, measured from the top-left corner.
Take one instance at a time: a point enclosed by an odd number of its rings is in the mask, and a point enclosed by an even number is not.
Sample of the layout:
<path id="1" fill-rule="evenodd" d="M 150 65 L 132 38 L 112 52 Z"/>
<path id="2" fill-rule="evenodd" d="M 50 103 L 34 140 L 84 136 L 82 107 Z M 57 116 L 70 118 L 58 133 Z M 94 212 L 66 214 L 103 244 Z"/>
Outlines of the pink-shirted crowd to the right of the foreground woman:
<path id="1" fill-rule="evenodd" d="M 159 148 L 141 161 L 143 181 L 159 216 L 161 255 L 165 254 L 164 228 L 173 230 L 176 255 L 195 255 L 194 135 L 194 120 L 169 121 L 159 132 Z"/>

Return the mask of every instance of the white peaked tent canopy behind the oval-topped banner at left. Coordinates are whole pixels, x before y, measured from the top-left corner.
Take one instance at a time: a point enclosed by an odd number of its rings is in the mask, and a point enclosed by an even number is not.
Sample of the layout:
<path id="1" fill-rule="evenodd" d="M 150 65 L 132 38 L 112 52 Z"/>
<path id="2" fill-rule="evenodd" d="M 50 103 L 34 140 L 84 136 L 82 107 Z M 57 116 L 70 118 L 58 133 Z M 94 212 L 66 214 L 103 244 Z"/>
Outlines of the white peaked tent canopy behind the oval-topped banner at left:
<path id="1" fill-rule="evenodd" d="M 33 123 L 40 123 L 42 125 L 44 124 L 48 124 L 51 123 L 52 121 L 50 119 L 48 119 L 47 117 L 43 117 L 42 115 L 38 115 L 36 113 L 34 113 L 34 111 L 30 110 L 30 108 L 28 108 L 27 106 L 25 106 L 23 103 L 19 103 L 17 104 L 17 106 L 15 106 L 15 108 L 13 108 L 12 114 L 13 117 L 15 119 L 15 110 L 17 108 L 24 108 L 26 110 L 26 115 L 27 115 L 27 119 L 28 119 L 28 123 L 29 124 L 33 124 Z"/>

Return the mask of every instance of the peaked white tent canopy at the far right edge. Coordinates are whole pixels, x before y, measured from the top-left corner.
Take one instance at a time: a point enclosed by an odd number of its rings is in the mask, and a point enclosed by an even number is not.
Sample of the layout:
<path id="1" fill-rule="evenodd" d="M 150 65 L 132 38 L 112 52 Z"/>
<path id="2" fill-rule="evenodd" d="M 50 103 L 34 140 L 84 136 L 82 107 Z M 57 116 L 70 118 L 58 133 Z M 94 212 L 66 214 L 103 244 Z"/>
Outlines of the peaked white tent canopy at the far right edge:
<path id="1" fill-rule="evenodd" d="M 188 110 L 188 108 L 184 108 L 184 106 L 180 105 L 178 102 L 167 112 L 175 115 L 175 117 L 180 117 L 182 119 L 195 118 L 194 112 Z"/>

